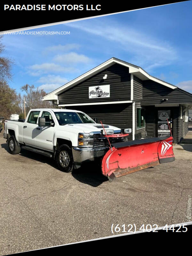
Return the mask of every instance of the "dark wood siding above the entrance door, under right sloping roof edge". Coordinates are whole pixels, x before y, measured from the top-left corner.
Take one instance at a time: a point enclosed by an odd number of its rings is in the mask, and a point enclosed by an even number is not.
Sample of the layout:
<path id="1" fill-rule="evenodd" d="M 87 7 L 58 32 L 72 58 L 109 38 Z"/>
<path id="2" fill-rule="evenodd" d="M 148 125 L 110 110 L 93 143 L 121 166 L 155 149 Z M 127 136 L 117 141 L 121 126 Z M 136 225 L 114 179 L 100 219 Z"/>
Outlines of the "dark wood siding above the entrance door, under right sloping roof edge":
<path id="1" fill-rule="evenodd" d="M 163 98 L 168 100 L 163 101 Z M 142 105 L 192 102 L 192 95 L 181 89 L 170 89 L 151 80 L 143 81 Z"/>

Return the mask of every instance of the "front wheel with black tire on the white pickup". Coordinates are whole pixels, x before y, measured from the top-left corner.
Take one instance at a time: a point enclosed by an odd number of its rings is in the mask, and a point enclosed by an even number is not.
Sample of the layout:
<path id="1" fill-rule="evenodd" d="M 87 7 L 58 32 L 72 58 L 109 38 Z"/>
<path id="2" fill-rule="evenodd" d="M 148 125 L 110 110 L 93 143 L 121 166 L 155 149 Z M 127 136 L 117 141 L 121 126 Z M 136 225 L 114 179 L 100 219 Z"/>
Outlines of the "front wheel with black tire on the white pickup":
<path id="1" fill-rule="evenodd" d="M 69 161 L 68 161 L 69 160 Z M 56 162 L 62 172 L 72 172 L 74 167 L 72 149 L 68 145 L 61 145 L 56 153 Z"/>

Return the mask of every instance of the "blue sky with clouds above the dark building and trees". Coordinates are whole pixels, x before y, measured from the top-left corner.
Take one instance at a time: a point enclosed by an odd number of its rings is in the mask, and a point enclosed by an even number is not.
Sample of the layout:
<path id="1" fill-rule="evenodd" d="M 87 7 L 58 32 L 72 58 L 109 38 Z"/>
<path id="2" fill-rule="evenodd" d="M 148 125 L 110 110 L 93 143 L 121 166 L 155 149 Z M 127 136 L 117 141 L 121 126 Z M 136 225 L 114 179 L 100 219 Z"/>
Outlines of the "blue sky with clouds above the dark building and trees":
<path id="1" fill-rule="evenodd" d="M 9 85 L 51 92 L 116 57 L 192 92 L 192 1 L 124 12 L 29 31 L 68 35 L 4 35 L 15 61 Z"/>

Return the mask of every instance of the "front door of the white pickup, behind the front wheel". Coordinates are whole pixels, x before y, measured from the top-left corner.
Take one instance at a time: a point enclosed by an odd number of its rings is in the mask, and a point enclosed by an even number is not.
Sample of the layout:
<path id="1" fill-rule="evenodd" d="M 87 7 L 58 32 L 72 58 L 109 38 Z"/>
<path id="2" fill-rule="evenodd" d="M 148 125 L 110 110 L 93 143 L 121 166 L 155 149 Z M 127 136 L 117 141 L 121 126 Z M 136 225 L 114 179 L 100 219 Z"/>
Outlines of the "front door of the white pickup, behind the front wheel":
<path id="1" fill-rule="evenodd" d="M 51 112 L 43 111 L 41 117 L 45 117 L 45 122 L 50 122 L 55 125 L 55 120 Z M 53 152 L 53 135 L 54 135 L 54 127 L 53 126 L 38 126 L 37 125 L 37 135 L 36 135 L 36 147 L 44 150 Z"/>

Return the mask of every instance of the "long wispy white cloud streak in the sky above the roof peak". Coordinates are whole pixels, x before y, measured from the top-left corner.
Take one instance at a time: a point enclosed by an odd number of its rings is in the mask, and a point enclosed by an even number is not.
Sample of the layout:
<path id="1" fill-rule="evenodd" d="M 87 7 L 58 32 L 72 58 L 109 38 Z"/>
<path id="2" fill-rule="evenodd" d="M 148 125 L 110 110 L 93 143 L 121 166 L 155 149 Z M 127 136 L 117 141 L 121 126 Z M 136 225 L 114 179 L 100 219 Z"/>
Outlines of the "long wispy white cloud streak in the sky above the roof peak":
<path id="1" fill-rule="evenodd" d="M 65 26 L 93 34 L 97 40 L 108 44 L 109 49 L 114 45 L 124 53 L 129 53 L 132 57 L 127 61 L 141 66 L 148 72 L 156 67 L 170 65 L 178 58 L 176 49 L 168 41 L 131 28 L 131 24 L 125 27 L 120 23 L 110 21 L 108 25 L 107 22 L 95 19 L 89 22 L 66 23 Z M 93 40 L 96 40 L 95 38 Z M 104 38 L 106 42 L 100 38 Z M 111 57 L 116 56 L 113 54 Z"/>

